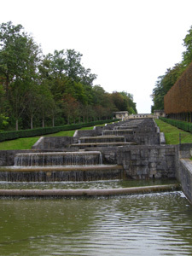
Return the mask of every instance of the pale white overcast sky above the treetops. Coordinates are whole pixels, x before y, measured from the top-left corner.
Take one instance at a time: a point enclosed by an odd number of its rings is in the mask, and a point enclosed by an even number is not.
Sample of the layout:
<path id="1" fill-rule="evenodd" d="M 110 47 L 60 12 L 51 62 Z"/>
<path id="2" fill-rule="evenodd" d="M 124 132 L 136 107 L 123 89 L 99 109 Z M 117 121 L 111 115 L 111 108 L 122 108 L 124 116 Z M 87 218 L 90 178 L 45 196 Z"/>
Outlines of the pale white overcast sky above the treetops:
<path id="1" fill-rule="evenodd" d="M 150 113 L 154 85 L 182 61 L 191 0 L 0 0 L 0 23 L 21 24 L 44 55 L 75 49 L 107 92 L 133 95 Z"/>

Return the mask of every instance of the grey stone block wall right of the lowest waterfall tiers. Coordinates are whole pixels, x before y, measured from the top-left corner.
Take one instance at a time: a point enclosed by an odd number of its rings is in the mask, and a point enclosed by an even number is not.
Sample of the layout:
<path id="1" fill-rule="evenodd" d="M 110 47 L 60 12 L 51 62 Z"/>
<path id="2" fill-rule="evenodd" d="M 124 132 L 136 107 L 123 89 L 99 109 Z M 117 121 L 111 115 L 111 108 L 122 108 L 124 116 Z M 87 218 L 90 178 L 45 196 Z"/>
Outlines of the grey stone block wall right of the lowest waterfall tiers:
<path id="1" fill-rule="evenodd" d="M 103 163 L 122 165 L 126 177 L 135 179 L 176 177 L 177 146 L 143 145 L 98 148 L 98 150 L 102 152 Z"/>

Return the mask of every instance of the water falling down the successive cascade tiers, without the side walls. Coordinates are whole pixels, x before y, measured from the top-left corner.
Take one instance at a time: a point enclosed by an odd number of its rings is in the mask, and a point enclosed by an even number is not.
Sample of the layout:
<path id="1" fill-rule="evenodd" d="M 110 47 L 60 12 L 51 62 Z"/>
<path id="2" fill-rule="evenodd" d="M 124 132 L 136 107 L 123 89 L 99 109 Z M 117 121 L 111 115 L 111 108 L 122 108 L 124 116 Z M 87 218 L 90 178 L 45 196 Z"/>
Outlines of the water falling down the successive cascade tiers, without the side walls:
<path id="1" fill-rule="evenodd" d="M 132 123 L 132 125 L 135 123 Z M 125 128 L 125 129 L 124 129 Z M 130 127 L 129 127 L 130 128 Z M 120 132 L 123 134 L 120 136 Z M 74 152 L 20 153 L 15 155 L 15 166 L 7 166 L 0 172 L 0 180 L 4 181 L 87 181 L 123 178 L 123 166 L 102 165 L 100 151 L 77 151 L 77 148 L 119 147 L 131 144 L 124 135 L 131 129 L 119 125 L 118 129 L 104 130 L 102 136 L 79 137 L 79 141 L 71 146 Z M 70 146 L 70 147 L 71 147 Z M 90 151 L 88 151 L 90 150 Z M 105 158 L 104 158 L 105 159 Z M 110 160 L 107 160 L 107 163 Z"/>

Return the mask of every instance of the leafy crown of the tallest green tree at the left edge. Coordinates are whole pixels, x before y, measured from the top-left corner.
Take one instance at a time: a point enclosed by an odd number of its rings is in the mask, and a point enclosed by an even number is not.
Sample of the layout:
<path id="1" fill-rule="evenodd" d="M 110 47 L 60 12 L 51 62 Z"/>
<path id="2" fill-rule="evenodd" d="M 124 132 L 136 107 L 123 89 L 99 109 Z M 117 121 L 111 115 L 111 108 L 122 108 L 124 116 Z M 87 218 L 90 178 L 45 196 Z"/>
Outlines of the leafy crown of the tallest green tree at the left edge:
<path id="1" fill-rule="evenodd" d="M 23 31 L 21 25 L 11 21 L 0 26 L 0 76 L 5 78 L 6 95 L 9 85 L 17 79 L 32 78 L 36 72 L 40 49 Z"/>

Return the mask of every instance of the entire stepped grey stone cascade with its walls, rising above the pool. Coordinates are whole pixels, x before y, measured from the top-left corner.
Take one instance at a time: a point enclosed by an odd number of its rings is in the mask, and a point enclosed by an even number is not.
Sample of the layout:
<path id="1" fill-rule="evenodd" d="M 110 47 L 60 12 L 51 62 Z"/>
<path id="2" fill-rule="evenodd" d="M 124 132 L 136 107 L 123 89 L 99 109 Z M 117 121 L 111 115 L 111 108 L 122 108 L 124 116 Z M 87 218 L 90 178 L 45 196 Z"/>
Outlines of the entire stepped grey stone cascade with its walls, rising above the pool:
<path id="1" fill-rule="evenodd" d="M 102 180 L 110 182 L 111 180 L 125 180 L 127 178 L 152 178 L 152 175 L 153 177 L 154 175 L 155 177 L 161 177 L 161 175 L 162 177 L 164 177 L 163 175 L 172 177 L 174 166 L 170 165 L 170 161 L 167 160 L 166 162 L 165 160 L 163 161 L 164 168 L 161 165 L 161 159 L 164 160 L 162 154 L 156 154 L 156 152 L 161 152 L 161 148 L 158 139 L 154 137 L 154 130 L 156 131 L 156 129 L 153 125 L 153 122 L 146 125 L 146 122 L 141 119 L 129 120 L 105 127 L 96 127 L 93 131 L 75 132 L 73 137 L 41 137 L 30 150 L 4 152 L 0 159 L 2 164 L 0 182 L 13 182 L 14 184 L 15 182 L 26 182 L 32 183 L 32 187 L 33 183 L 39 184 L 40 187 L 42 183 L 52 183 L 54 189 L 12 189 L 12 191 L 2 189 L 0 197 L 103 196 L 151 193 L 151 187 L 145 190 L 109 188 L 92 191 L 91 189 L 56 189 L 55 186 L 56 182 L 98 181 L 100 183 Z M 151 132 L 153 137 L 148 136 Z M 145 136 L 145 141 L 143 141 L 143 136 Z M 159 138 L 158 136 L 159 134 L 157 134 L 157 138 Z M 147 145 L 147 148 L 145 146 L 140 148 L 140 143 Z M 169 149 L 169 154 L 172 157 L 172 148 Z M 149 160 L 153 160 L 154 155 L 156 160 L 153 165 L 148 165 Z M 166 166 L 172 167 L 168 174 Z M 158 168 L 164 168 L 165 172 L 161 172 L 161 169 L 159 172 Z M 154 186 L 154 191 L 157 191 L 156 189 L 166 191 L 166 189 L 177 189 L 177 186 L 174 188 L 170 185 L 165 188 Z"/>

